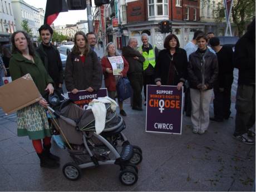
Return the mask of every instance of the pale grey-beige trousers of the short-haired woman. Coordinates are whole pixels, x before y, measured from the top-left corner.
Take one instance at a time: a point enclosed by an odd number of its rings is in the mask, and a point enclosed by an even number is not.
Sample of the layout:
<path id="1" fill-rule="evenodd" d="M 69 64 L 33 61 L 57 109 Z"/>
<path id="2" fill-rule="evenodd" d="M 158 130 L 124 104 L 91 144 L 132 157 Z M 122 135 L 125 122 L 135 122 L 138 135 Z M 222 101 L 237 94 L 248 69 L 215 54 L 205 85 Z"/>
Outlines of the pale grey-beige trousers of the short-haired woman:
<path id="1" fill-rule="evenodd" d="M 213 90 L 200 91 L 190 88 L 191 121 L 193 129 L 207 130 L 209 125 L 209 108 Z"/>

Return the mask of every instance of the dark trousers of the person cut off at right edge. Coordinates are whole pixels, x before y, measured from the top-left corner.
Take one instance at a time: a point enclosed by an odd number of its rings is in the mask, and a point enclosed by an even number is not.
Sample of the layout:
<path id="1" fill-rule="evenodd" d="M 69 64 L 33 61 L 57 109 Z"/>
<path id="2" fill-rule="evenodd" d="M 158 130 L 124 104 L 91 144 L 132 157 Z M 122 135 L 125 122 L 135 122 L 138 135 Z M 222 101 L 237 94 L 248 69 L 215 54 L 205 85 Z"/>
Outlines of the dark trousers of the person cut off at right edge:
<path id="1" fill-rule="evenodd" d="M 238 85 L 234 135 L 245 134 L 255 123 L 255 85 Z"/>

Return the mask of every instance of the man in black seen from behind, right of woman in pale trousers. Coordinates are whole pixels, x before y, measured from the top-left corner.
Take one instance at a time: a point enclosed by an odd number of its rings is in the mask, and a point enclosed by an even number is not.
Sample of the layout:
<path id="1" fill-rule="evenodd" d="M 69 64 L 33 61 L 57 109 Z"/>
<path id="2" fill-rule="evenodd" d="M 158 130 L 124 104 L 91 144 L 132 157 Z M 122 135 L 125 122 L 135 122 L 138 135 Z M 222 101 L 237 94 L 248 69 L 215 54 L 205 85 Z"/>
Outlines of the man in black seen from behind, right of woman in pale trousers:
<path id="1" fill-rule="evenodd" d="M 219 75 L 218 80 L 213 86 L 214 92 L 214 117 L 210 117 L 211 121 L 223 121 L 229 119 L 231 114 L 231 88 L 233 83 L 233 57 L 234 53 L 230 46 L 220 46 L 218 37 L 212 37 L 209 41 L 211 48 L 218 57 Z"/>

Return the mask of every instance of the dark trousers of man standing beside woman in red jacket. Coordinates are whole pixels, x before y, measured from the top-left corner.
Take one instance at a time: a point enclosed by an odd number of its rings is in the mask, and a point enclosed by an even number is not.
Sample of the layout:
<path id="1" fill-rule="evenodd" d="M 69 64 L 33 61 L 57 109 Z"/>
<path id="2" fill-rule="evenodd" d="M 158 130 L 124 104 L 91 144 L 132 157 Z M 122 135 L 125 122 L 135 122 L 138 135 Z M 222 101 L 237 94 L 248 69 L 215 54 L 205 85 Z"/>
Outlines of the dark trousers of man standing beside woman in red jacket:
<path id="1" fill-rule="evenodd" d="M 140 107 L 142 106 L 142 96 L 141 91 L 143 87 L 143 75 L 141 74 L 130 74 L 127 76 L 131 87 L 133 90 L 132 95 L 132 107 Z"/>

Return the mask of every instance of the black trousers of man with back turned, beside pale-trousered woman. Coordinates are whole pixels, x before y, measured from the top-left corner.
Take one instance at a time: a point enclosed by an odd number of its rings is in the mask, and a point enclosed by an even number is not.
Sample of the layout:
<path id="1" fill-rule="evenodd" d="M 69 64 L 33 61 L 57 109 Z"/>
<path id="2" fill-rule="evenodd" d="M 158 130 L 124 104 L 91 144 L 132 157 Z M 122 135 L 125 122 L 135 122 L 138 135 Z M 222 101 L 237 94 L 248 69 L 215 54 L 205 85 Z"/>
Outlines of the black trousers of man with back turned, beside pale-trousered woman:
<path id="1" fill-rule="evenodd" d="M 232 85 L 224 87 L 224 91 L 220 92 L 219 88 L 214 87 L 214 100 L 213 100 L 213 107 L 214 107 L 214 117 L 216 119 L 223 120 L 228 119 L 231 111 L 231 88 Z"/>

